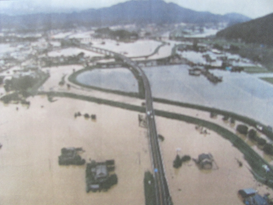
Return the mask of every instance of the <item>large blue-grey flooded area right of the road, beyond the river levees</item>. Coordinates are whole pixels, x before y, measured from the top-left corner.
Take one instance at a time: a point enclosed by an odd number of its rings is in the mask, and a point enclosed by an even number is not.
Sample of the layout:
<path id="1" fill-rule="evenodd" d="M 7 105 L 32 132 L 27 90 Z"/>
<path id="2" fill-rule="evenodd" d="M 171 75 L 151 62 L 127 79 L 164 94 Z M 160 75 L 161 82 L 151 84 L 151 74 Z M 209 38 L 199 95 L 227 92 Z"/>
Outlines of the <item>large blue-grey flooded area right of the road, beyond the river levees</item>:
<path id="1" fill-rule="evenodd" d="M 152 95 L 232 111 L 273 125 L 273 85 L 244 72 L 215 70 L 223 82 L 214 85 L 204 76 L 189 76 L 187 65 L 147 67 Z M 164 77 L 162 77 L 164 76 Z"/>

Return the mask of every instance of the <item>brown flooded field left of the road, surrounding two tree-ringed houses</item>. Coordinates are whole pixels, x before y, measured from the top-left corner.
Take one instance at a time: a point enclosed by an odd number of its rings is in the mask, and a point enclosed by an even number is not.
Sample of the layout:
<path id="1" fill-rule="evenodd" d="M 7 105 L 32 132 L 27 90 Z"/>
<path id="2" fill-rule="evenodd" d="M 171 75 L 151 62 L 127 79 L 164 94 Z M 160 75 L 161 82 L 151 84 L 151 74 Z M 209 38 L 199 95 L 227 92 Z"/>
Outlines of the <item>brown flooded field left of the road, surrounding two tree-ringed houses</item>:
<path id="1" fill-rule="evenodd" d="M 29 108 L 0 103 L 1 204 L 145 203 L 143 177 L 151 163 L 137 112 L 67 98 L 29 100 Z M 96 114 L 97 120 L 74 118 L 78 111 Z M 118 184 L 87 194 L 85 165 L 58 165 L 62 147 L 83 147 L 87 162 L 114 159 Z"/>

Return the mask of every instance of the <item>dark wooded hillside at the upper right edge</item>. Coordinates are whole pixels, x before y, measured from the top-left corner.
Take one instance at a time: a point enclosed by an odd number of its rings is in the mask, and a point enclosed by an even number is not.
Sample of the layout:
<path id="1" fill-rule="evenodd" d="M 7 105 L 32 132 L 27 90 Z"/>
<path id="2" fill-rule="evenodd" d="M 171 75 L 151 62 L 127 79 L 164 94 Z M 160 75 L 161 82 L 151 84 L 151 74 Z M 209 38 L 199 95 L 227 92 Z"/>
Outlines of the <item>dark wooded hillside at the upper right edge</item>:
<path id="1" fill-rule="evenodd" d="M 246 43 L 273 45 L 273 13 L 230 26 L 216 34 L 226 39 L 242 39 Z"/>

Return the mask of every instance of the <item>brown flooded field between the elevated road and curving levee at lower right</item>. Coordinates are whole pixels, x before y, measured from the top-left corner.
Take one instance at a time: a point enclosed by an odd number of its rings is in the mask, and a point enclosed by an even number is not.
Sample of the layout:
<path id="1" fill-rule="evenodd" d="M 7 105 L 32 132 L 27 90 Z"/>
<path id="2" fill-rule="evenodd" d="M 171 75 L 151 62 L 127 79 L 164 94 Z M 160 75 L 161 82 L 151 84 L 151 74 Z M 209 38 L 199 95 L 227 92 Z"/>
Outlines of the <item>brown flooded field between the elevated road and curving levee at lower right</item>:
<path id="1" fill-rule="evenodd" d="M 209 134 L 200 134 L 193 124 L 163 117 L 157 117 L 156 122 L 158 133 L 165 138 L 161 150 L 174 204 L 242 204 L 237 192 L 249 187 L 273 196 L 271 189 L 254 179 L 242 153 L 217 133 L 207 130 Z M 172 164 L 177 153 L 195 159 L 201 153 L 211 153 L 215 164 L 212 170 L 204 171 L 191 160 L 175 169 Z"/>

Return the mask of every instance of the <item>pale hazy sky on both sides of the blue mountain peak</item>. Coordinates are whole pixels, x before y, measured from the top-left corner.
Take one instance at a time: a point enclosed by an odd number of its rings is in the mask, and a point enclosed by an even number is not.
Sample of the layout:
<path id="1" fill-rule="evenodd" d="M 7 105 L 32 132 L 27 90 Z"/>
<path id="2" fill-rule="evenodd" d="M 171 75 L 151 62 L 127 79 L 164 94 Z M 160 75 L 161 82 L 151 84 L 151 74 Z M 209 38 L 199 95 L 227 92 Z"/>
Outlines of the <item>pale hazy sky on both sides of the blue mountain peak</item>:
<path id="1" fill-rule="evenodd" d="M 0 12 L 22 10 L 48 10 L 49 8 L 87 9 L 108 7 L 126 0 L 0 0 Z M 257 18 L 273 13 L 273 0 L 166 0 L 197 11 L 216 14 L 241 13 Z"/>

